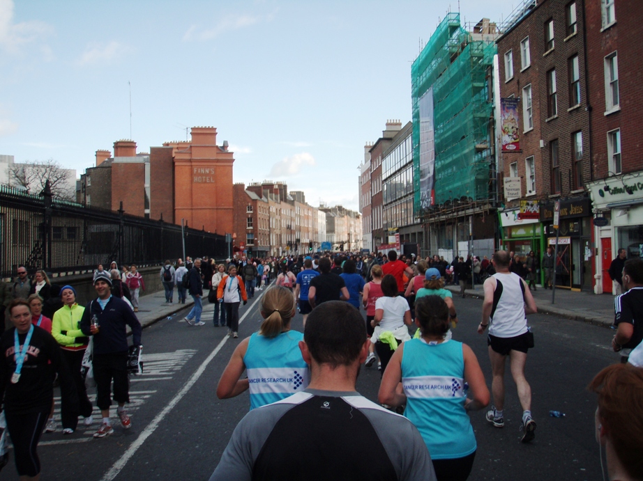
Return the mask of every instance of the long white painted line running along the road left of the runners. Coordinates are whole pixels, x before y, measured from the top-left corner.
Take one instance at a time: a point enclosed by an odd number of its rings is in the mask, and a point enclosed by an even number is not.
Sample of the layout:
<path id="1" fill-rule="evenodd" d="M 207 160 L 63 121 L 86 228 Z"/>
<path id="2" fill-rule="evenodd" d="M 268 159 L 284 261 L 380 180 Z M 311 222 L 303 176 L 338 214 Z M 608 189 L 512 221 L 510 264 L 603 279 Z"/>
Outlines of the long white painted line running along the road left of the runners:
<path id="1" fill-rule="evenodd" d="M 241 322 L 245 320 L 245 317 L 252 312 L 252 310 L 255 308 L 255 304 L 259 301 L 259 299 L 262 298 L 262 295 L 257 297 L 257 300 L 250 305 L 250 308 L 248 310 L 245 311 L 245 313 L 239 320 L 239 324 L 241 324 Z M 199 368 L 195 371 L 195 373 L 192 374 L 190 379 L 188 379 L 186 384 L 183 385 L 183 388 L 181 388 L 181 391 L 176 393 L 176 395 L 172 398 L 172 400 L 169 403 L 167 403 L 167 406 L 165 406 L 165 408 L 156 415 L 156 418 L 154 418 L 151 421 L 151 423 L 149 423 L 149 425 L 147 425 L 145 429 L 143 429 L 143 431 L 141 432 L 141 434 L 139 434 L 137 439 L 133 443 L 131 443 L 130 446 L 127 448 L 127 450 L 123 453 L 123 455 L 121 456 L 121 459 L 116 461 L 114 465 L 111 468 L 109 468 L 109 471 L 105 473 L 101 481 L 112 481 L 114 478 L 116 478 L 116 476 L 119 475 L 119 473 L 128 463 L 128 461 L 133 457 L 133 455 L 135 455 L 135 452 L 137 452 L 138 448 L 140 448 L 143 445 L 143 443 L 149 438 L 149 436 L 151 436 L 151 434 L 154 431 L 156 431 L 156 428 L 158 427 L 159 423 L 163 420 L 163 418 L 165 418 L 165 416 L 167 416 L 167 413 L 169 413 L 169 411 L 172 411 L 172 409 L 174 409 L 176 404 L 178 404 L 179 401 L 183 399 L 183 396 L 185 396 L 188 393 L 188 391 L 190 391 L 190 388 L 192 388 L 192 386 L 195 385 L 195 383 L 199 380 L 199 377 L 201 377 L 202 374 L 205 372 L 209 363 L 211 363 L 213 358 L 219 353 L 219 351 L 225 345 L 228 339 L 230 339 L 229 336 L 223 337 L 223 339 L 221 340 L 221 342 L 219 342 L 217 347 L 214 348 L 214 350 L 209 354 L 206 360 L 203 361 L 203 363 L 199 366 Z"/>

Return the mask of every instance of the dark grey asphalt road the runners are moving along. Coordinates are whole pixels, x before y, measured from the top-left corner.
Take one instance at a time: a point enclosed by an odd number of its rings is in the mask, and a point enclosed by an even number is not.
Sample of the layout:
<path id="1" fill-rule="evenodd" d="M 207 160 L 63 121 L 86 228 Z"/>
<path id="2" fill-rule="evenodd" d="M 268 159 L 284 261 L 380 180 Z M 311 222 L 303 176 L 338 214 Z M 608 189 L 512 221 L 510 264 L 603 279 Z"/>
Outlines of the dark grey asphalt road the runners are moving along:
<path id="1" fill-rule="evenodd" d="M 257 330 L 259 294 L 241 308 L 240 339 Z M 481 363 L 487 385 L 491 369 L 486 341 L 478 336 L 481 300 L 455 299 L 460 324 L 453 338 L 469 344 Z M 38 452 L 41 480 L 206 480 L 214 470 L 236 423 L 248 412 L 248 393 L 218 400 L 215 388 L 238 340 L 214 328 L 211 306 L 206 326 L 178 322 L 187 312 L 149 326 L 143 333 L 145 373 L 130 385 L 133 427 L 115 424 L 114 434 L 93 439 L 82 421 L 77 432 L 43 434 Z M 181 315 L 182 314 L 182 315 Z M 527 380 L 538 428 L 529 445 L 520 443 L 522 411 L 515 385 L 506 374 L 505 427 L 487 425 L 484 411 L 471 414 L 478 452 L 471 480 L 601 480 L 598 445 L 593 438 L 596 399 L 586 386 L 603 367 L 618 362 L 609 349 L 609 329 L 548 315 L 529 316 L 536 348 L 529 352 Z M 293 328 L 302 329 L 301 316 Z M 379 372 L 363 368 L 358 391 L 377 400 Z M 92 390 L 93 391 L 93 390 Z M 93 393 L 92 393 L 93 394 Z M 92 396 L 93 399 L 93 396 Z M 59 404 L 56 403 L 56 419 Z M 550 409 L 566 413 L 550 418 Z M 116 420 L 112 415 L 113 422 Z M 16 478 L 13 451 L 0 481 Z"/>

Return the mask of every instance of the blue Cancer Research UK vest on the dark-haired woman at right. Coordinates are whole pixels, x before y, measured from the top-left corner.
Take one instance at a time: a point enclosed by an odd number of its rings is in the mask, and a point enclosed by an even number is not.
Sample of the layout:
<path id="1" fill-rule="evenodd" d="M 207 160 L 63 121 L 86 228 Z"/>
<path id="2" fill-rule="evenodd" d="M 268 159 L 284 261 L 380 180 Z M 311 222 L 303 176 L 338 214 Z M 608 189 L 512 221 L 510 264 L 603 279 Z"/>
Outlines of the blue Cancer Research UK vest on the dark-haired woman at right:
<path id="1" fill-rule="evenodd" d="M 430 345 L 413 339 L 404 342 L 402 354 L 402 386 L 407 395 L 404 416 L 418 428 L 431 459 L 470 455 L 477 444 L 464 411 L 462 342 Z"/>

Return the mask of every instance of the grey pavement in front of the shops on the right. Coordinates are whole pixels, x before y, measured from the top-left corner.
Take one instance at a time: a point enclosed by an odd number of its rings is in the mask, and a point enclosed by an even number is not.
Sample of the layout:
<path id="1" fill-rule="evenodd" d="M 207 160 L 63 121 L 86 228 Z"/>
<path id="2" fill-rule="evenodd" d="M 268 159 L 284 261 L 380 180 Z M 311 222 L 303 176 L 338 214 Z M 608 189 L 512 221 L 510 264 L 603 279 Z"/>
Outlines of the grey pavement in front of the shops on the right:
<path id="1" fill-rule="evenodd" d="M 454 297 L 460 296 L 460 287 L 446 286 L 453 292 Z M 464 290 L 467 297 L 483 299 L 485 294 L 482 285 L 475 289 Z M 538 313 L 559 315 L 569 319 L 589 322 L 597 326 L 609 327 L 614 323 L 614 296 L 609 294 L 593 294 L 590 292 L 572 292 L 568 289 L 557 289 L 552 304 L 552 290 L 538 287 L 531 291 L 534 296 Z"/>

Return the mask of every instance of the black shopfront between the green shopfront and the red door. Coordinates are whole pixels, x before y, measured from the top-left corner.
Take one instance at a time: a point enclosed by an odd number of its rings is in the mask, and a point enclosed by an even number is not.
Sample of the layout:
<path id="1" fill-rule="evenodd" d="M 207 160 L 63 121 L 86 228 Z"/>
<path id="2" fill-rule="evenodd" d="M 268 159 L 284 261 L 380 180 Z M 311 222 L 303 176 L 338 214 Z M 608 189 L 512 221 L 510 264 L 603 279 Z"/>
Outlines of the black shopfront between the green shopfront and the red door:
<path id="1" fill-rule="evenodd" d="M 589 197 L 560 200 L 556 285 L 571 290 L 593 289 L 592 262 L 595 255 L 592 243 L 592 215 Z M 540 205 L 547 246 L 556 244 L 553 228 L 554 201 Z"/>

